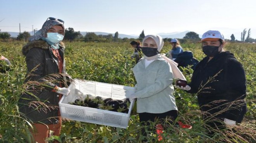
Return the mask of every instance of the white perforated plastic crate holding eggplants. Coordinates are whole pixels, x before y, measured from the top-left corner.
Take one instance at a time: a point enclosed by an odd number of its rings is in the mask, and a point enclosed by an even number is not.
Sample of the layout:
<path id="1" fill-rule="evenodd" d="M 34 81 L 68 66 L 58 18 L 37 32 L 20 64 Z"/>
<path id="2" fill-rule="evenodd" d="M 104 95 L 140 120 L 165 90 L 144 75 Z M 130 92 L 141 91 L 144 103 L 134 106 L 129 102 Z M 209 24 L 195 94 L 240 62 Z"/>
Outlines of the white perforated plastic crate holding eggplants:
<path id="1" fill-rule="evenodd" d="M 103 99 L 111 97 L 112 99 L 123 100 L 127 95 L 135 92 L 134 87 L 74 79 L 69 85 L 69 89 L 70 94 L 62 96 L 59 102 L 62 117 L 75 121 L 127 128 L 134 100 L 131 101 L 128 114 L 75 106 L 69 102 L 74 102 L 77 98 L 84 99 L 86 94 L 92 95 L 92 98 L 100 96 Z"/>

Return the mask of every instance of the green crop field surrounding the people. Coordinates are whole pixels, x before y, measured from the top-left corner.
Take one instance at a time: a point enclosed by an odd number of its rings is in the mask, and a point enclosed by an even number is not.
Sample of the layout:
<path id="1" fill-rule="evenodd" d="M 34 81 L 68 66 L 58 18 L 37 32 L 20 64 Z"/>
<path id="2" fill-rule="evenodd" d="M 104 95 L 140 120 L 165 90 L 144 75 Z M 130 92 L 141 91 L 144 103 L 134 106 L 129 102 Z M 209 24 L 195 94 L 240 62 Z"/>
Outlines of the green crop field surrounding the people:
<path id="1" fill-rule="evenodd" d="M 0 143 L 27 143 L 30 141 L 29 128 L 31 123 L 19 116 L 17 100 L 24 90 L 23 81 L 26 76 L 25 57 L 21 48 L 23 42 L 0 42 L 0 54 L 7 57 L 12 65 L 7 73 L 0 73 Z M 129 43 L 65 43 L 66 70 L 73 78 L 92 80 L 118 85 L 134 86 L 136 81 L 132 73 L 135 61 L 130 58 L 133 53 Z M 184 50 L 194 53 L 194 57 L 202 60 L 204 54 L 199 43 L 182 43 Z M 171 49 L 170 44 L 164 45 L 162 53 Z M 192 129 L 182 129 L 171 124 L 163 134 L 162 143 L 253 143 L 256 142 L 256 44 L 228 43 L 226 51 L 231 51 L 242 63 L 247 80 L 247 108 L 245 119 L 239 126 L 216 131 L 217 136 L 209 137 L 205 133 L 202 113 L 196 95 L 182 90 L 175 90 L 176 104 L 179 109 L 178 120 L 191 124 Z M 5 63 L 0 61 L 2 68 Z M 183 74 L 190 80 L 191 68 L 184 68 Z M 239 81 L 237 81 L 239 82 Z M 150 126 L 154 128 L 154 123 Z M 138 115 L 133 111 L 127 129 L 113 128 L 97 124 L 65 120 L 62 124 L 61 136 L 51 136 L 62 143 L 138 143 L 141 142 Z M 157 134 L 151 133 L 148 142 L 157 140 Z M 158 141 L 157 141 L 158 142 Z"/>

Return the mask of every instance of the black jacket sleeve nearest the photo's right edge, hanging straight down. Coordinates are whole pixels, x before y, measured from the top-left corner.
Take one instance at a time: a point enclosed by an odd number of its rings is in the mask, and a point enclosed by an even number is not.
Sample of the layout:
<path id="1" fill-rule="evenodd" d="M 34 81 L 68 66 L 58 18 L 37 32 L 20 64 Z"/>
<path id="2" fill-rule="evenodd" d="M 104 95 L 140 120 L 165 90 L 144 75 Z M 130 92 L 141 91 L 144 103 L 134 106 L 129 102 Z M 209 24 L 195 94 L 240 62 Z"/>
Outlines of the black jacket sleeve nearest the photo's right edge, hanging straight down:
<path id="1" fill-rule="evenodd" d="M 243 100 L 246 97 L 246 77 L 244 68 L 237 60 L 227 63 L 227 100 L 229 110 L 225 112 L 225 118 L 237 121 L 242 112 L 242 106 L 246 106 Z"/>

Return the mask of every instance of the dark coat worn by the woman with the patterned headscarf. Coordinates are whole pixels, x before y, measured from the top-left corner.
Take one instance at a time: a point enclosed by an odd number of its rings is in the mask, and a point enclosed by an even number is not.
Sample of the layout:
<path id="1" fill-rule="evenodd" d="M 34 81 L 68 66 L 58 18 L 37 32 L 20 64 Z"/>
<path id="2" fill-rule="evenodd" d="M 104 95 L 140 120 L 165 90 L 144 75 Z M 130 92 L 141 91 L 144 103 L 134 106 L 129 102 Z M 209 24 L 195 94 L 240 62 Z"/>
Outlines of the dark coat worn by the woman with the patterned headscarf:
<path id="1" fill-rule="evenodd" d="M 22 48 L 22 53 L 26 56 L 28 71 L 24 84 L 28 84 L 28 88 L 25 89 L 24 94 L 22 94 L 19 100 L 19 110 L 33 122 L 56 124 L 58 123 L 56 117 L 59 116 L 58 103 L 60 97 L 58 93 L 52 92 L 52 90 L 56 85 L 60 86 L 60 80 L 63 80 L 64 77 L 63 75 L 57 75 L 59 73 L 58 59 L 53 55 L 49 45 L 41 40 L 26 44 Z M 62 73 L 66 73 L 63 58 L 64 43 L 61 43 L 59 54 L 63 61 Z M 35 96 L 28 94 L 28 92 Z M 38 100 L 47 107 L 39 107 L 40 104 L 37 104 Z M 35 105 L 39 109 L 36 109 Z"/>

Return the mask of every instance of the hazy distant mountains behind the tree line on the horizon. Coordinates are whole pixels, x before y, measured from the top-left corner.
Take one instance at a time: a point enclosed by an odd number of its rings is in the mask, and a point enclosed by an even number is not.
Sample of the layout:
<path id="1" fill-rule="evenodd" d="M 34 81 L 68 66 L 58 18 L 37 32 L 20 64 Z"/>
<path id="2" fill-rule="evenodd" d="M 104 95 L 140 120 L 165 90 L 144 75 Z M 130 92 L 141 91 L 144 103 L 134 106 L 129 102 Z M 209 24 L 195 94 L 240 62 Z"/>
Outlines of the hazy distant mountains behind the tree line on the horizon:
<path id="1" fill-rule="evenodd" d="M 163 38 L 183 38 L 187 32 L 190 31 L 184 31 L 184 32 L 171 32 L 171 33 L 158 33 L 157 35 L 162 36 Z M 19 35 L 19 32 L 8 32 L 11 37 L 17 37 Z M 80 32 L 83 36 L 86 35 L 87 32 Z M 106 33 L 106 32 L 94 32 L 96 35 L 108 35 L 108 34 L 112 34 L 113 36 L 115 35 L 114 33 Z M 33 32 L 30 31 L 29 32 L 30 35 L 33 35 Z M 137 39 L 139 36 L 137 35 L 126 35 L 126 34 L 118 34 L 119 38 L 134 38 Z M 201 35 L 199 35 L 199 37 L 201 37 Z"/>

